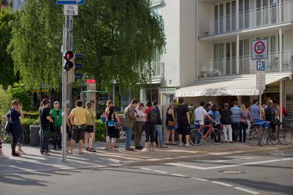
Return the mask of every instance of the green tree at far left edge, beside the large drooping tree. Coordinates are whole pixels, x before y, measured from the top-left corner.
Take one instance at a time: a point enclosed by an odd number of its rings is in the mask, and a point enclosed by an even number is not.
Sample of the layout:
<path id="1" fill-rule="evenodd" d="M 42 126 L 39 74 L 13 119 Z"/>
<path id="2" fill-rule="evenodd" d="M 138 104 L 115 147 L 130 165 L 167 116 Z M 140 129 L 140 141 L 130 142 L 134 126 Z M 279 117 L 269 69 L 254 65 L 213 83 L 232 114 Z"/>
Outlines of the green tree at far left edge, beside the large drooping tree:
<path id="1" fill-rule="evenodd" d="M 18 75 L 13 71 L 13 60 L 6 52 L 11 39 L 12 28 L 9 22 L 15 19 L 11 9 L 0 8 L 0 84 L 6 89 L 8 85 L 18 82 Z"/>

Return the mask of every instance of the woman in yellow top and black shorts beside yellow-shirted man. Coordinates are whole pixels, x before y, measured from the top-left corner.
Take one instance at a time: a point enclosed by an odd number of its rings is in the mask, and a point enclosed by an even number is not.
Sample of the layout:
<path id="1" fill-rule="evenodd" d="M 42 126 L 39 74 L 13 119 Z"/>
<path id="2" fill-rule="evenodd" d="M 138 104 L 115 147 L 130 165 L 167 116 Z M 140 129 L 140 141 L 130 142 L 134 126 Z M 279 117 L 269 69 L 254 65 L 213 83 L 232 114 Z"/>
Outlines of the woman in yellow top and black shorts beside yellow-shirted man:
<path id="1" fill-rule="evenodd" d="M 89 112 L 91 119 L 89 120 L 88 125 L 85 128 L 85 150 L 89 152 L 97 152 L 93 149 L 93 140 L 94 140 L 94 125 L 93 120 L 95 119 L 95 116 L 92 111 L 92 105 L 90 102 L 86 103 L 86 109 Z M 87 117 L 86 117 L 87 118 Z"/>

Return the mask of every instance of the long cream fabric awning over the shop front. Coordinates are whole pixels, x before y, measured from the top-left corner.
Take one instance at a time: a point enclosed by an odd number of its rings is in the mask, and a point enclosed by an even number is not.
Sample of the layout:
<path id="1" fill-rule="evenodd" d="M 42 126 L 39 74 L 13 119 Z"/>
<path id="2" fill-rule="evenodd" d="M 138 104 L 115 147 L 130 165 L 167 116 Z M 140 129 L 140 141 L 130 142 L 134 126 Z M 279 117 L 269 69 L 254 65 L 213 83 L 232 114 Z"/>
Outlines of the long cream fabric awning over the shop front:
<path id="1" fill-rule="evenodd" d="M 267 77 L 266 85 L 288 76 Z M 191 86 L 176 90 L 176 97 L 199 96 L 257 96 L 256 78 L 198 81 Z"/>

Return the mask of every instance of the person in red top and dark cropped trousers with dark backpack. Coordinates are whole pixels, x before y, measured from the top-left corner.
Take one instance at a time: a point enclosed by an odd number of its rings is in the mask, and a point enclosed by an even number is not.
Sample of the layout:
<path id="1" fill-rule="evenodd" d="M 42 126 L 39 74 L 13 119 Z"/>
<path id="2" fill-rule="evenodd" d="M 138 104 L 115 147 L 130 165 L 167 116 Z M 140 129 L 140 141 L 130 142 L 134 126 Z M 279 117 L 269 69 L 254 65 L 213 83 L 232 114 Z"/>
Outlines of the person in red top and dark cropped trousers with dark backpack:
<path id="1" fill-rule="evenodd" d="M 142 152 L 148 152 L 149 137 L 152 144 L 152 151 L 156 150 L 156 140 L 155 140 L 155 125 L 158 122 L 158 113 L 153 109 L 151 101 L 146 102 L 147 109 L 145 110 L 144 117 L 145 121 L 145 134 L 146 134 L 146 148 Z"/>

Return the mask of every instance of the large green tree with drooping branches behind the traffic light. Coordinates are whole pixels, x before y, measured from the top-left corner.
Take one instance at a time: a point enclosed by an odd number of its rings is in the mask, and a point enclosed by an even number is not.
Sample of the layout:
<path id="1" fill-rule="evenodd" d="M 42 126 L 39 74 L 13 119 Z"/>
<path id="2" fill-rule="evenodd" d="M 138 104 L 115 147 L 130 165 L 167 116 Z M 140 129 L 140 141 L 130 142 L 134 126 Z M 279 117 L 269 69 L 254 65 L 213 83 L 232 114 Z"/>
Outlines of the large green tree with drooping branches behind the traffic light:
<path id="1" fill-rule="evenodd" d="M 100 86 L 146 83 L 152 54 L 165 50 L 163 20 L 150 0 L 87 0 L 79 9 L 73 48 L 85 56 L 85 77 L 96 78 Z M 56 1 L 27 0 L 14 22 L 9 51 L 26 87 L 60 85 L 62 14 Z M 146 62 L 149 71 L 143 71 Z"/>

